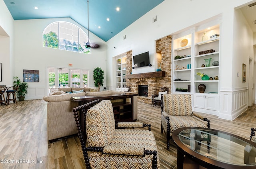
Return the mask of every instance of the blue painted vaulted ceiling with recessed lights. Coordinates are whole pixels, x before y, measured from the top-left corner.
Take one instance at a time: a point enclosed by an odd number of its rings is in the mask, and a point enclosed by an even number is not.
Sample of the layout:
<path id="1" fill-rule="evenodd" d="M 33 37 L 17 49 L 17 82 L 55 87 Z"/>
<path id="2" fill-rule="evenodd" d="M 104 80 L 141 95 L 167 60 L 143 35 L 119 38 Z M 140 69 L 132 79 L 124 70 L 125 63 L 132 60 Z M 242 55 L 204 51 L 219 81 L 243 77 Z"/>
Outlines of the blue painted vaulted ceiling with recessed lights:
<path id="1" fill-rule="evenodd" d="M 89 30 L 102 40 L 108 41 L 163 1 L 89 0 Z M 87 0 L 4 0 L 4 2 L 14 20 L 69 17 L 84 28 L 88 28 Z M 35 7 L 38 9 L 34 9 Z M 120 8 L 119 11 L 116 10 L 117 7 Z"/>

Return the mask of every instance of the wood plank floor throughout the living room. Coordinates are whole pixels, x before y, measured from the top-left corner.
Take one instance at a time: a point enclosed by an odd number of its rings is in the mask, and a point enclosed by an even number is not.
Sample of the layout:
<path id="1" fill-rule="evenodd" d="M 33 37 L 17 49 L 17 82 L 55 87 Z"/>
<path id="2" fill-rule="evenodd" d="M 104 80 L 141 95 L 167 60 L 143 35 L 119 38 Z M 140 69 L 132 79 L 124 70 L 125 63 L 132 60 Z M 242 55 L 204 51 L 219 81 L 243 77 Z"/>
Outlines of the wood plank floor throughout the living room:
<path id="1" fill-rule="evenodd" d="M 49 143 L 47 140 L 47 102 L 25 100 L 0 106 L 0 169 L 82 169 L 85 168 L 77 137 Z M 138 103 L 138 121 L 152 125 L 161 169 L 176 169 L 176 147 L 166 149 L 160 130 L 160 106 Z M 250 128 L 256 127 L 256 106 L 248 108 L 233 121 L 204 115 L 211 128 L 231 132 L 249 140 Z M 8 162 L 8 163 L 7 163 Z"/>

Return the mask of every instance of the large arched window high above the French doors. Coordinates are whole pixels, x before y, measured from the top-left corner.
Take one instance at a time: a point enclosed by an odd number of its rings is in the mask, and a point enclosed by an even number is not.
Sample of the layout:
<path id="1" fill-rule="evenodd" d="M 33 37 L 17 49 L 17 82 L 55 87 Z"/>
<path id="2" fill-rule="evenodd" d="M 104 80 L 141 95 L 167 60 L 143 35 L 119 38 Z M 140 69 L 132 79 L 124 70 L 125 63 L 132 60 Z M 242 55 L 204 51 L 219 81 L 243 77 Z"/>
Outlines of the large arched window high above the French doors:
<path id="1" fill-rule="evenodd" d="M 66 51 L 91 53 L 86 47 L 88 36 L 84 31 L 69 22 L 54 22 L 43 32 L 43 46 Z"/>

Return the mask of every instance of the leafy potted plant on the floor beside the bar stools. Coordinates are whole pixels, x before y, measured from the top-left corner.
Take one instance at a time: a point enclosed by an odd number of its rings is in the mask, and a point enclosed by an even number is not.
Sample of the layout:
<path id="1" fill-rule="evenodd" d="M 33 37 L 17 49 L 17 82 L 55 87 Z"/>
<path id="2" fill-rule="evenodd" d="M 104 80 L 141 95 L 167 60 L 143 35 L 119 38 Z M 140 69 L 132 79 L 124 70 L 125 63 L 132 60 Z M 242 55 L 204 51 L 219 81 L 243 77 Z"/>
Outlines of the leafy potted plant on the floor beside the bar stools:
<path id="1" fill-rule="evenodd" d="M 14 79 L 13 81 L 14 88 L 17 88 L 17 91 L 16 91 L 17 97 L 20 101 L 23 101 L 26 94 L 28 93 L 28 83 L 21 82 L 17 76 L 13 77 L 13 79 Z"/>

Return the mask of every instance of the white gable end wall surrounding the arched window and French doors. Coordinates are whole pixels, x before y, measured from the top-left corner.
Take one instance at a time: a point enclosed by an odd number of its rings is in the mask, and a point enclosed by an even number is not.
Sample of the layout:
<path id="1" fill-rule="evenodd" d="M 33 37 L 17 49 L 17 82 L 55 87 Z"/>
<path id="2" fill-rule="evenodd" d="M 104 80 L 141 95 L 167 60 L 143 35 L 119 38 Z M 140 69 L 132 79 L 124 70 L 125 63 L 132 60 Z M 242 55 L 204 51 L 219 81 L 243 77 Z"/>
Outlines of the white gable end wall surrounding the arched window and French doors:
<path id="1" fill-rule="evenodd" d="M 42 46 L 42 33 L 44 29 L 56 21 L 70 22 L 87 32 L 86 29 L 70 18 L 14 21 L 14 75 L 22 79 L 23 69 L 39 70 L 40 73 L 39 83 L 28 83 L 29 90 L 25 98 L 27 100 L 42 98 L 42 96 L 47 94 L 46 70 L 48 67 L 89 69 L 89 87 L 94 87 L 93 70 L 95 67 L 101 67 L 106 74 L 105 42 L 92 33 L 89 35 L 90 40 L 101 44 L 100 48 L 92 49 L 92 54 L 51 49 Z M 68 67 L 69 63 L 72 63 L 73 66 Z M 104 79 L 104 85 L 106 85 L 106 78 Z"/>

